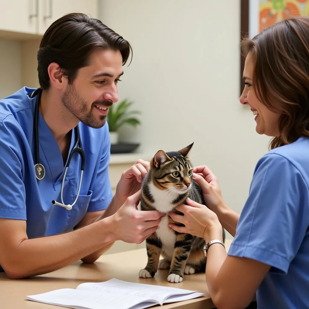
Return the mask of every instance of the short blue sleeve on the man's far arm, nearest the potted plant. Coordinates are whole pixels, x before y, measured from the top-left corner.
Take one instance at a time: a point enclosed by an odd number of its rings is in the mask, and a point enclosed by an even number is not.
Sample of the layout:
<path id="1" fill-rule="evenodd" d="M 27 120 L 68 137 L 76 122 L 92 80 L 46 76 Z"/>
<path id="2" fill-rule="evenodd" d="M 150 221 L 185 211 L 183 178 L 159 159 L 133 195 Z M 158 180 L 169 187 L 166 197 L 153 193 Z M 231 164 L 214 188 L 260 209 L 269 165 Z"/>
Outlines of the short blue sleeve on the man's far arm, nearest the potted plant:
<path id="1" fill-rule="evenodd" d="M 94 183 L 91 200 L 87 211 L 99 211 L 108 207 L 112 201 L 112 188 L 109 180 L 109 160 L 110 160 L 110 137 L 107 122 L 104 125 L 103 145 L 101 146 L 101 156 L 99 167 L 93 175 Z"/>

